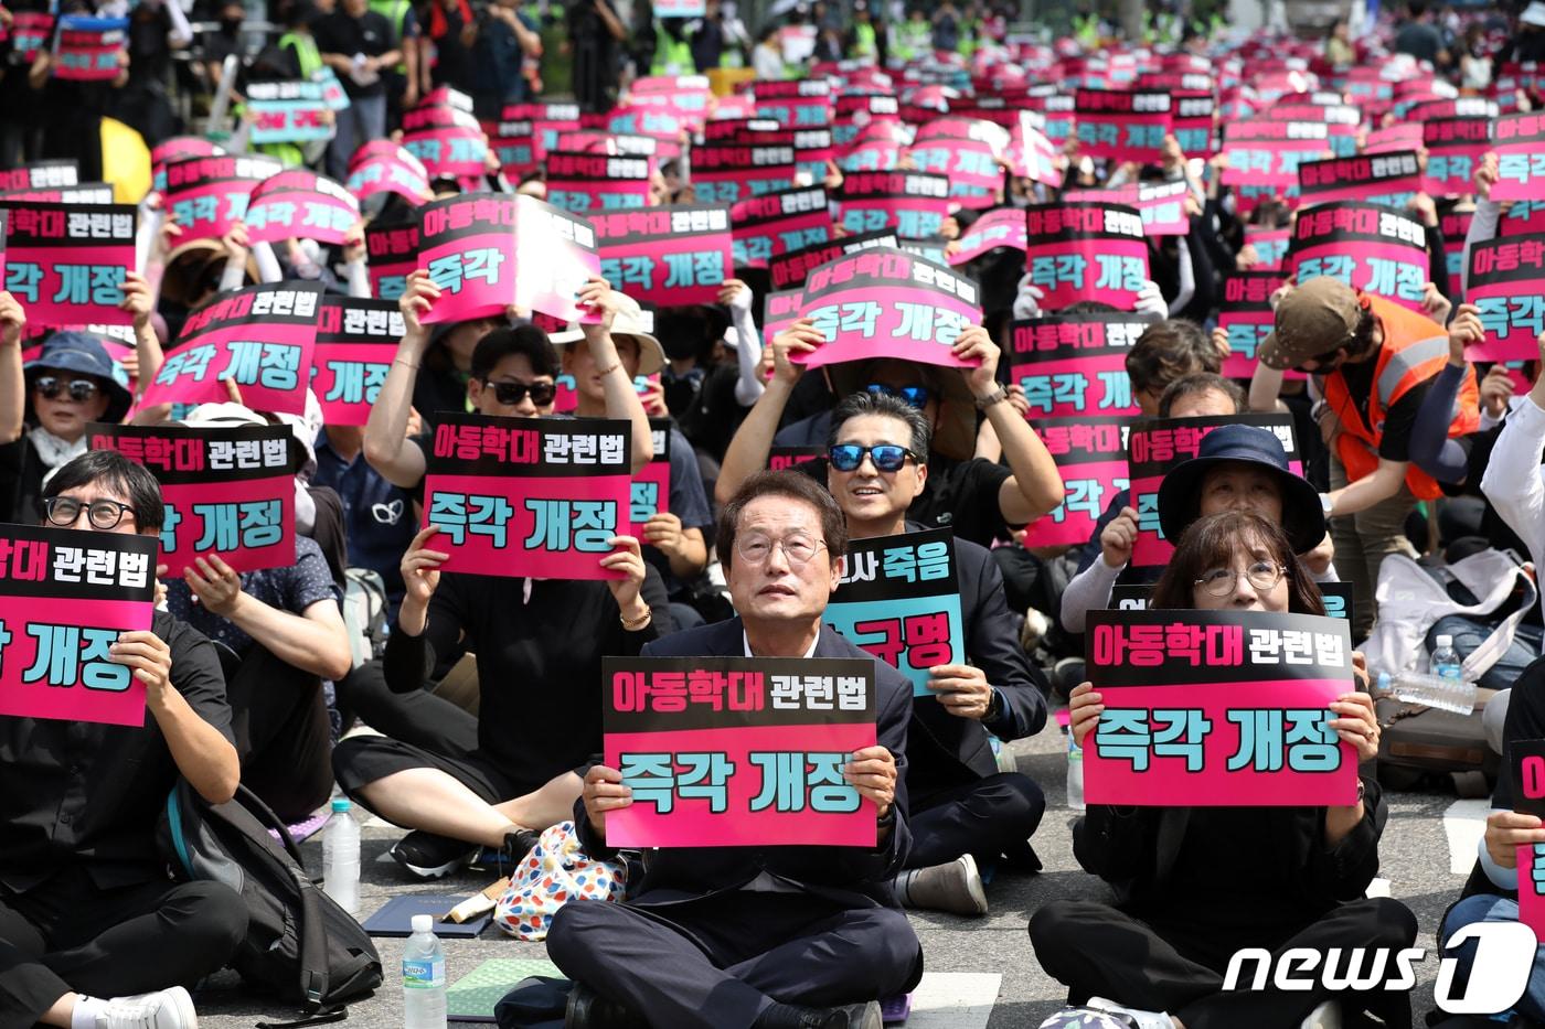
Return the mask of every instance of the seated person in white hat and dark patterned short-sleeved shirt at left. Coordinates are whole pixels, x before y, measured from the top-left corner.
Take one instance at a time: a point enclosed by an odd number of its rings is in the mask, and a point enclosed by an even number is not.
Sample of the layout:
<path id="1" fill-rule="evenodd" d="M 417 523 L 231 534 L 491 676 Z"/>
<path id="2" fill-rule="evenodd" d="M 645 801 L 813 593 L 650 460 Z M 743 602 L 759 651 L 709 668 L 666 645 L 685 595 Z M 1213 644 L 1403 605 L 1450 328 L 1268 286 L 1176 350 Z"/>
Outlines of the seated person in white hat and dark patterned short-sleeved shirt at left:
<path id="1" fill-rule="evenodd" d="M 267 425 L 236 403 L 202 403 L 184 425 Z M 198 558 L 167 584 L 167 609 L 230 649 L 230 697 L 241 782 L 287 822 L 332 793 L 332 723 L 323 680 L 349 674 L 352 654 L 328 558 L 295 536 L 295 564 L 236 573 Z M 227 658 L 230 660 L 230 658 Z"/>

